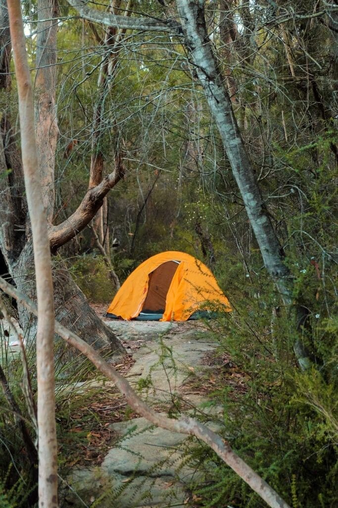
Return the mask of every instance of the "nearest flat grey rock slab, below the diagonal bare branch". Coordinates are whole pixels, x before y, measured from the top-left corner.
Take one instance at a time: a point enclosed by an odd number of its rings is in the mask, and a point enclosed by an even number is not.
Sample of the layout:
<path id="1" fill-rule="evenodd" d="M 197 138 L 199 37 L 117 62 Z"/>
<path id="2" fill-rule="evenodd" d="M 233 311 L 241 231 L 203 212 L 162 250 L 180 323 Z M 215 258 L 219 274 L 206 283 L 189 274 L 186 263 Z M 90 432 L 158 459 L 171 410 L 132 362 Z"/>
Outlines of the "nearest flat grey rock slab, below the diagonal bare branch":
<path id="1" fill-rule="evenodd" d="M 144 418 L 110 425 L 120 435 L 117 445 L 102 465 L 93 469 L 75 469 L 67 481 L 89 506 L 103 492 L 99 508 L 164 508 L 185 506 L 189 482 L 196 471 L 179 467 L 183 454 L 180 445 L 186 435 L 152 427 Z M 80 500 L 65 494 L 65 506 L 80 508 Z"/>

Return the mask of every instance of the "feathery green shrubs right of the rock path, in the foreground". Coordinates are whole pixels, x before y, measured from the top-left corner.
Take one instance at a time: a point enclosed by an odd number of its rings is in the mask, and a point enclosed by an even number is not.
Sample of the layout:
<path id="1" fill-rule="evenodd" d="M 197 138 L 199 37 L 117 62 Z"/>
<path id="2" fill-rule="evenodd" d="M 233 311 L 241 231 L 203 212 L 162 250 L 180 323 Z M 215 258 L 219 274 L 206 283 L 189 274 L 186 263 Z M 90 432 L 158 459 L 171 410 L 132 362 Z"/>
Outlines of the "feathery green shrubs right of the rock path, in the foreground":
<path id="1" fill-rule="evenodd" d="M 248 284 L 233 315 L 209 323 L 219 343 L 218 357 L 231 358 L 246 385 L 241 392 L 235 389 L 234 396 L 224 375 L 224 384 L 216 383 L 210 393 L 209 404 L 222 406 L 223 437 L 233 450 L 292 508 L 334 508 L 338 479 L 334 291 L 327 286 L 325 297 L 313 298 L 318 280 L 311 269 L 302 271 L 295 282 L 307 308 L 297 334 L 313 354 L 313 367 L 299 369 L 290 316 L 282 308 L 276 312 L 274 289 L 260 277 L 255 284 L 259 293 L 250 294 Z M 229 366 L 223 370 L 227 373 Z M 193 487 L 198 506 L 265 505 L 204 444 L 187 451 L 189 455 L 201 473 Z"/>

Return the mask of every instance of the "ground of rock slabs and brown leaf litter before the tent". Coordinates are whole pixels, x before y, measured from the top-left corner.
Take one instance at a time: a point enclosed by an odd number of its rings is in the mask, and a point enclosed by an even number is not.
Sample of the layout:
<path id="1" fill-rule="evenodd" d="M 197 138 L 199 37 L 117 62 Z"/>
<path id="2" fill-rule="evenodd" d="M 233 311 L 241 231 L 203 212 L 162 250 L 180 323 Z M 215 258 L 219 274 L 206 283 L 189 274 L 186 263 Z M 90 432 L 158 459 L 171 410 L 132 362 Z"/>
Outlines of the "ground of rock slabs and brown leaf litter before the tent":
<path id="1" fill-rule="evenodd" d="M 227 354 L 216 355 L 217 334 L 202 322 L 117 321 L 105 318 L 106 306 L 93 308 L 126 347 L 116 368 L 149 405 L 222 428 L 222 406 L 206 405 L 209 394 L 227 386 L 240 397 L 246 380 Z M 188 460 L 192 438 L 149 425 L 97 373 L 56 392 L 62 507 L 198 506 L 190 486 L 204 473 Z"/>

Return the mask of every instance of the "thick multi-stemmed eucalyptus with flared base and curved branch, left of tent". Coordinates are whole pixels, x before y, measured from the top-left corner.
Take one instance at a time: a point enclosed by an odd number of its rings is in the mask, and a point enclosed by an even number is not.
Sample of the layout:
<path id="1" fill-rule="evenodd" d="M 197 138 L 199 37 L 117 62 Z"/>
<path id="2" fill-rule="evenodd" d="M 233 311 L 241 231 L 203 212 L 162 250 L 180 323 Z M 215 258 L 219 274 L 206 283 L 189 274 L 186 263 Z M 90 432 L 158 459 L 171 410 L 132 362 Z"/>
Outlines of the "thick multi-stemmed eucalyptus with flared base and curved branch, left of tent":
<path id="1" fill-rule="evenodd" d="M 43 3 L 46 5 L 46 1 Z M 56 9 L 54 0 L 50 0 L 50 6 Z M 51 7 L 50 7 L 51 8 Z M 54 12 L 54 11 L 49 11 Z M 46 14 L 46 13 L 45 13 Z M 42 16 L 44 12 L 42 12 Z M 46 16 L 47 19 L 48 16 Z M 49 39 L 50 24 L 46 21 L 41 31 L 45 31 L 45 39 L 41 34 L 41 43 L 48 40 L 56 41 L 55 34 Z M 56 20 L 49 22 L 56 25 Z M 0 0 L 0 87 L 2 90 L 2 118 L 0 120 L 0 250 L 5 260 L 7 271 L 17 288 L 35 299 L 34 283 L 34 262 L 32 238 L 30 231 L 30 221 L 27 215 L 27 201 L 23 185 L 23 171 L 20 152 L 17 148 L 17 138 L 11 124 L 11 111 L 9 101 L 6 99 L 11 90 L 11 38 L 9 33 L 8 9 L 6 0 Z M 53 54 L 50 51 L 47 54 Z M 41 56 L 44 70 L 37 76 L 36 83 L 39 83 L 40 90 L 43 85 L 55 82 L 55 68 L 52 60 L 49 63 L 45 60 L 46 54 Z M 50 73 L 50 75 L 49 75 Z M 53 97 L 55 97 L 55 88 L 48 88 L 47 99 L 41 94 L 36 95 L 35 119 L 38 123 L 36 130 L 38 152 L 40 154 L 40 163 L 43 166 L 41 182 L 44 190 L 44 204 L 48 210 L 49 220 L 52 218 L 54 196 L 54 176 L 48 175 L 48 171 L 53 172 L 55 155 L 55 108 L 53 106 Z M 39 113 L 39 114 L 37 114 Z M 50 132 L 53 133 L 49 143 Z M 50 238 L 51 249 L 57 248 L 68 239 L 81 231 L 92 219 L 96 210 L 100 207 L 102 199 L 111 186 L 119 181 L 120 174 L 116 173 L 106 177 L 101 186 L 94 187 L 87 193 L 79 210 L 69 217 L 65 224 L 57 227 L 49 225 L 48 236 Z M 53 259 L 53 282 L 55 294 L 56 315 L 62 323 L 99 350 L 106 350 L 110 354 L 124 354 L 124 347 L 116 336 L 99 319 L 91 309 L 80 288 L 72 280 L 65 264 L 61 259 Z M 32 320 L 31 315 L 22 306 L 18 305 L 19 321 L 22 329 L 27 331 L 28 340 L 35 340 L 36 320 Z M 60 342 L 60 344 L 63 343 Z M 62 363 L 71 362 L 78 353 L 67 347 L 59 351 L 62 355 Z M 70 364 L 69 364 L 70 365 Z M 76 363 L 73 364 L 73 367 Z"/>

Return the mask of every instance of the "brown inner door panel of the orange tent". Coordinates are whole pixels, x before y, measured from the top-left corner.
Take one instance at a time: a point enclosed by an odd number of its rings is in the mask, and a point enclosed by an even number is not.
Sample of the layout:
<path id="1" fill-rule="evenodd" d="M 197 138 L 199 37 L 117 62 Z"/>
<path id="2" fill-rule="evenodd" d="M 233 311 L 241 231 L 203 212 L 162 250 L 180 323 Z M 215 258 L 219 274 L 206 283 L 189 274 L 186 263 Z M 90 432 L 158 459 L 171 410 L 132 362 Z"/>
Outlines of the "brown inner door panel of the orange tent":
<path id="1" fill-rule="evenodd" d="M 143 303 L 143 312 L 164 312 L 171 279 L 177 267 L 176 261 L 167 261 L 149 273 L 148 292 Z"/>

